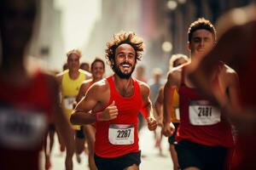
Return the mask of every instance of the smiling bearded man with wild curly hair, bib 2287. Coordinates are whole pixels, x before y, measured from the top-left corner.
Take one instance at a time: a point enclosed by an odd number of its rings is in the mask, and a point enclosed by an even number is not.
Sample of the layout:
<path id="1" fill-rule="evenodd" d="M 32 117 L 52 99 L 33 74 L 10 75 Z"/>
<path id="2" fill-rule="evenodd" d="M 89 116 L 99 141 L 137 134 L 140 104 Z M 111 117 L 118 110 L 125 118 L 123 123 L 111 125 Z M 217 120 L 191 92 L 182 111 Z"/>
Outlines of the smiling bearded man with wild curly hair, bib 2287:
<path id="1" fill-rule="evenodd" d="M 131 77 L 143 52 L 143 41 L 121 31 L 108 42 L 106 57 L 112 77 L 94 83 L 71 117 L 73 124 L 96 122 L 95 161 L 98 169 L 139 169 L 137 114 L 144 108 L 148 129 L 156 128 L 145 82 Z"/>

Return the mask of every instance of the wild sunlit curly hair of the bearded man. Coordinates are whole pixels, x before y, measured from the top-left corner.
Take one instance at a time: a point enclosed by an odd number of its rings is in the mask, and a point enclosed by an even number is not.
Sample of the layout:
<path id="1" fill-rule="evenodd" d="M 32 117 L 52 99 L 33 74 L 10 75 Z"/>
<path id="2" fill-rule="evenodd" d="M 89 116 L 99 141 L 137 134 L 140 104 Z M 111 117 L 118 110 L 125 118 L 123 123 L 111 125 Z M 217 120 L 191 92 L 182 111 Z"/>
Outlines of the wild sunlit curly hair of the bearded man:
<path id="1" fill-rule="evenodd" d="M 136 59 L 141 60 L 144 50 L 143 38 L 138 37 L 134 32 L 119 31 L 113 35 L 112 41 L 107 42 L 105 52 L 106 59 L 108 59 L 108 61 L 114 60 L 116 48 L 123 43 L 130 44 L 136 52 Z"/>

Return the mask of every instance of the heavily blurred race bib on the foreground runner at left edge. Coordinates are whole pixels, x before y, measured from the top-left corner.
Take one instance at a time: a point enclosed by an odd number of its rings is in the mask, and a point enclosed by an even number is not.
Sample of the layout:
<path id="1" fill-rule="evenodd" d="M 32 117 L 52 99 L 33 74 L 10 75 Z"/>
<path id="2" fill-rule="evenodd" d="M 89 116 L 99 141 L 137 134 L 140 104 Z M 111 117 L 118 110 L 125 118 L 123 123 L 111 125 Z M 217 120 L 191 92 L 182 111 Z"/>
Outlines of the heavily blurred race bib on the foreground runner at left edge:
<path id="1" fill-rule="evenodd" d="M 19 150 L 38 146 L 42 143 L 46 125 L 44 114 L 0 108 L 0 144 Z"/>

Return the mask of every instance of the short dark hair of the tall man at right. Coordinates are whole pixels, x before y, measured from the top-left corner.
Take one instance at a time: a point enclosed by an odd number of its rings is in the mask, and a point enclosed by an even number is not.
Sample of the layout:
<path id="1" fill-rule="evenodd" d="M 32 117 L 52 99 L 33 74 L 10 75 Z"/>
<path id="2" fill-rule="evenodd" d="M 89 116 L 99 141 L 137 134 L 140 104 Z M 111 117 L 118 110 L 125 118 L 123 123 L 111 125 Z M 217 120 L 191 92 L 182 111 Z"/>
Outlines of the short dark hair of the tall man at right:
<path id="1" fill-rule="evenodd" d="M 193 33 L 201 29 L 212 32 L 213 40 L 216 41 L 216 30 L 212 25 L 211 21 L 206 20 L 204 18 L 199 18 L 198 20 L 195 20 L 194 22 L 192 22 L 189 26 L 189 30 L 188 30 L 189 42 L 191 42 Z"/>

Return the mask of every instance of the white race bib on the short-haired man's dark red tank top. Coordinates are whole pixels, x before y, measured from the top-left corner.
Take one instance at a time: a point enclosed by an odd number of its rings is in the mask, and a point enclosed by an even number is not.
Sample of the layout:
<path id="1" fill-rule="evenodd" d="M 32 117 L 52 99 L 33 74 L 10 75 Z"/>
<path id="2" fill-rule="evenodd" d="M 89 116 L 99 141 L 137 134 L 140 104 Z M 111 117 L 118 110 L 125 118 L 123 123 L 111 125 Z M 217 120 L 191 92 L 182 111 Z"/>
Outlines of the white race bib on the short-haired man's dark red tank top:
<path id="1" fill-rule="evenodd" d="M 189 121 L 198 126 L 214 125 L 220 122 L 220 111 L 207 100 L 190 101 Z"/>

